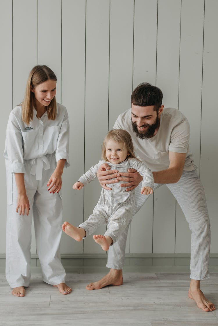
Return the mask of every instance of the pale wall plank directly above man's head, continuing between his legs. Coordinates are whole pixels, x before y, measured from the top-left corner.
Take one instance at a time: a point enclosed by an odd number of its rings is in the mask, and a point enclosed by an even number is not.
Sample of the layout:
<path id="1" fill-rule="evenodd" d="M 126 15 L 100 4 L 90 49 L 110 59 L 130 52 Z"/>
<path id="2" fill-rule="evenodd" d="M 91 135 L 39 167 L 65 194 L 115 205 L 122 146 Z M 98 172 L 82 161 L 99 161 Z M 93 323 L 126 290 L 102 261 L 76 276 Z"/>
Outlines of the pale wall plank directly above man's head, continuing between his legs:
<path id="1" fill-rule="evenodd" d="M 156 38 L 157 1 L 135 0 L 133 89 L 141 82 L 150 82 L 153 85 L 156 83 Z M 153 195 L 150 196 L 149 200 L 132 220 L 130 232 L 131 253 L 152 252 L 152 230 Z M 138 240 L 135 241 L 135 239 Z"/>

